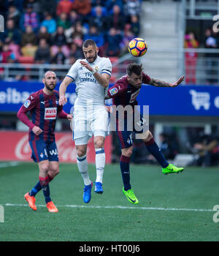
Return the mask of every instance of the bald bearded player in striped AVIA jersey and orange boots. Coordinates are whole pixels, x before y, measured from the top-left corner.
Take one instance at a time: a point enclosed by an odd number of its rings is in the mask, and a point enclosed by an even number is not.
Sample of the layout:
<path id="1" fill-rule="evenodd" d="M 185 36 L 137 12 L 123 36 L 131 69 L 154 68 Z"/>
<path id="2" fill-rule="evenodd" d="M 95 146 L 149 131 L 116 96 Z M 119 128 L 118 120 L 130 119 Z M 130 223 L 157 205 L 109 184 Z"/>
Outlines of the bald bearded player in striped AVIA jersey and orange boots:
<path id="1" fill-rule="evenodd" d="M 55 91 L 56 75 L 47 71 L 42 79 L 45 87 L 31 94 L 18 111 L 18 118 L 29 127 L 28 140 L 32 150 L 31 158 L 39 166 L 39 181 L 24 195 L 29 206 L 37 211 L 35 195 L 42 189 L 48 211 L 58 212 L 50 198 L 49 182 L 59 173 L 58 150 L 55 144 L 55 121 L 59 118 L 72 120 L 72 115 L 58 105 L 59 94 Z M 31 113 L 32 121 L 26 114 Z"/>

